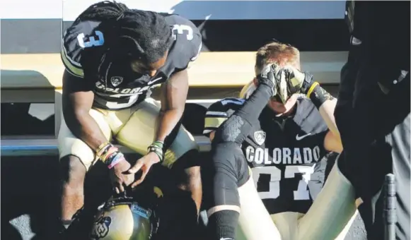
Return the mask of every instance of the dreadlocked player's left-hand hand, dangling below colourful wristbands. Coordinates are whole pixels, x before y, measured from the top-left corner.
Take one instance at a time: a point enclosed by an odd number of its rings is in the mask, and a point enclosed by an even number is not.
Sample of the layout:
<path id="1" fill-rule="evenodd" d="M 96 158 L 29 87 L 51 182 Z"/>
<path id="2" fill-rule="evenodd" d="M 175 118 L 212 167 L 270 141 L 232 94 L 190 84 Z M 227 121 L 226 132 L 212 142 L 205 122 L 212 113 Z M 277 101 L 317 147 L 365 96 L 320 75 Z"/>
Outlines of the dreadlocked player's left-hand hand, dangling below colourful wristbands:
<path id="1" fill-rule="evenodd" d="M 115 192 L 122 193 L 125 186 L 129 186 L 134 181 L 134 174 L 126 174 L 131 164 L 127 160 L 122 160 L 109 170 L 110 180 Z"/>

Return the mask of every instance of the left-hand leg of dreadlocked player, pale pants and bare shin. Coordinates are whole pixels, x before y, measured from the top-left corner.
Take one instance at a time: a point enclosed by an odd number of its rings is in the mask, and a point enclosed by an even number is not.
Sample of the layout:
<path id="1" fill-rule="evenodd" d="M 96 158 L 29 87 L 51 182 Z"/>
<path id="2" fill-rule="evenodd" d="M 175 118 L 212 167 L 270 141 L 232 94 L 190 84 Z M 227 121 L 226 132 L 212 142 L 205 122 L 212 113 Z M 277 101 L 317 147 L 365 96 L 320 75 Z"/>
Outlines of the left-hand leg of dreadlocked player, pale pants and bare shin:
<path id="1" fill-rule="evenodd" d="M 110 139 L 110 126 L 103 114 L 91 109 L 90 115 L 95 119 L 105 137 Z M 95 154 L 82 140 L 76 138 L 66 126 L 64 117 L 59 129 L 59 159 L 61 176 L 61 219 L 65 227 L 84 203 L 83 185 L 86 172 L 95 162 Z"/>

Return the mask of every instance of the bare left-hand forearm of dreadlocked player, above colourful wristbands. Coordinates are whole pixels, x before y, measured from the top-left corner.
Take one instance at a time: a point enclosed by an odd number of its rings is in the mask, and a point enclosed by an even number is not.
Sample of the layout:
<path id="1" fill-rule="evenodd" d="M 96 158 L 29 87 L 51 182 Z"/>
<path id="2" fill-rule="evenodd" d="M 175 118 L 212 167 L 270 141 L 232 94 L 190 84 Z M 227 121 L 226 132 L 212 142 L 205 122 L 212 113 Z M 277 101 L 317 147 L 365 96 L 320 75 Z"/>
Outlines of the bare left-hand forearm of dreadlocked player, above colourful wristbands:
<path id="1" fill-rule="evenodd" d="M 71 133 L 83 140 L 93 151 L 96 151 L 103 143 L 107 143 L 107 138 L 88 112 L 66 115 L 70 115 L 64 116 L 64 119 Z"/>

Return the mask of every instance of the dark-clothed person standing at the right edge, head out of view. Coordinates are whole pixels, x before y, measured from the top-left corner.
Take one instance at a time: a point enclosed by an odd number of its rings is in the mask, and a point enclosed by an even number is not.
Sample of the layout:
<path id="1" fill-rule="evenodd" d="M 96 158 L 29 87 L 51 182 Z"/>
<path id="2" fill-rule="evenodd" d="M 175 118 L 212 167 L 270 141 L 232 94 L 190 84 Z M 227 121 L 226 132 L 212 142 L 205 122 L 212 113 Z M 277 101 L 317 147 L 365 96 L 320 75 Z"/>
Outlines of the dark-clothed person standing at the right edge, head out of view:
<path id="1" fill-rule="evenodd" d="M 345 19 L 351 38 L 335 108 L 339 167 L 363 202 L 368 239 L 410 239 L 410 1 L 347 1 Z M 381 194 L 390 173 L 394 215 Z"/>

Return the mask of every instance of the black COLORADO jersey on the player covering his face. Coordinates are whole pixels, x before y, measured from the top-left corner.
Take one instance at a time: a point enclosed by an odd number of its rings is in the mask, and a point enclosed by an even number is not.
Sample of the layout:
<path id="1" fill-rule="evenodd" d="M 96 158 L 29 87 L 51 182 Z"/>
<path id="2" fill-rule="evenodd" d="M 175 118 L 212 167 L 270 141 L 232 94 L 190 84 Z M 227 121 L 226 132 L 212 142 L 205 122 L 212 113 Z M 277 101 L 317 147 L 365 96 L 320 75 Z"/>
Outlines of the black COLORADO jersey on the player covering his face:
<path id="1" fill-rule="evenodd" d="M 216 130 L 245 100 L 226 98 L 207 110 L 204 133 Z M 294 114 L 277 117 L 268 107 L 260 114 L 241 148 L 265 207 L 277 212 L 303 212 L 313 198 L 308 181 L 324 148 L 328 126 L 311 100 L 299 98 Z"/>

